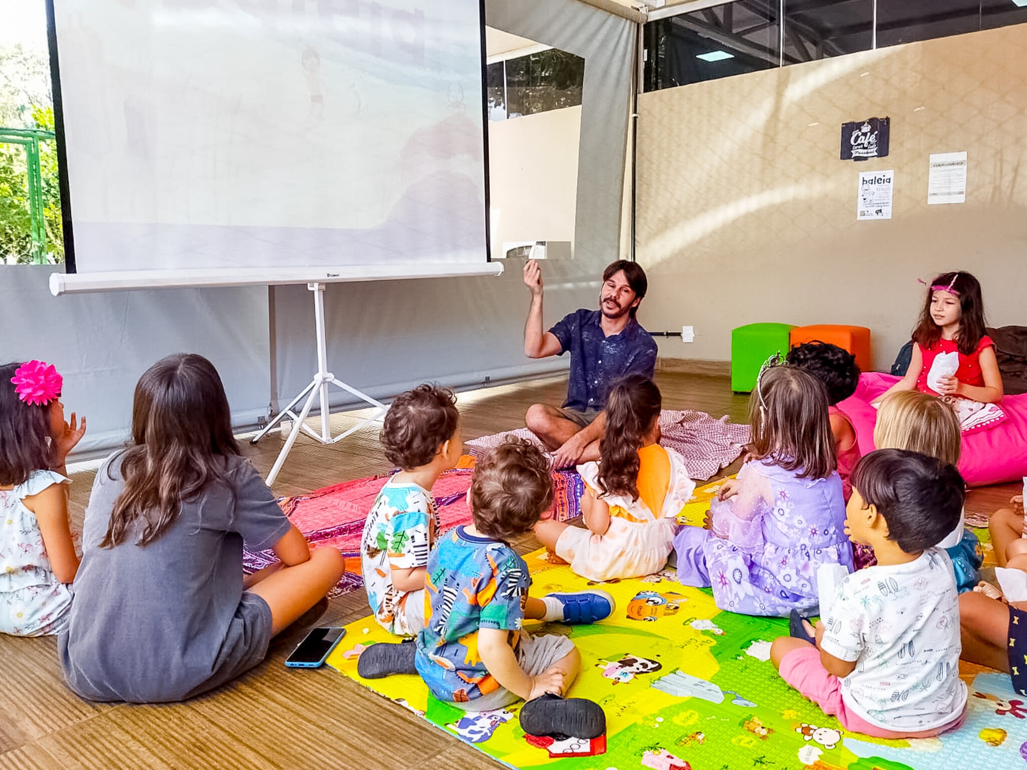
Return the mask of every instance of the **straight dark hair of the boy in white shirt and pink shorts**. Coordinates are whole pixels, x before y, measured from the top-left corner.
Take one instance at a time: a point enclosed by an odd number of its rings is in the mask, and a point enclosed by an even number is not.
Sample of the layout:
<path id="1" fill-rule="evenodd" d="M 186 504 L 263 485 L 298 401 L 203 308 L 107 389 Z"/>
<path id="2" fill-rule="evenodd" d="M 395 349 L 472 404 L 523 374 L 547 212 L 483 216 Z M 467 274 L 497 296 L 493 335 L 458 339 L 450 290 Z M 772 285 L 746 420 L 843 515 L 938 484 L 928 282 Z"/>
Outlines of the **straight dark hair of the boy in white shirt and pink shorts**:
<path id="1" fill-rule="evenodd" d="M 852 488 L 888 524 L 906 553 L 938 545 L 959 525 L 965 484 L 955 466 L 908 450 L 877 450 L 852 470 Z"/>

